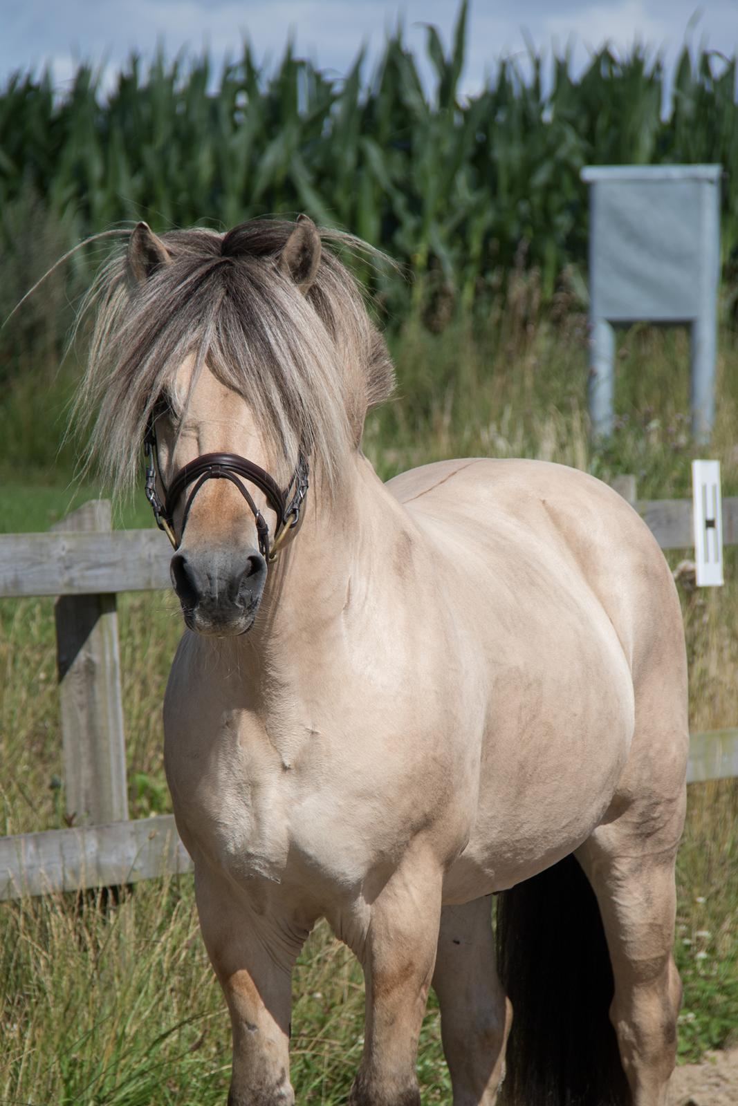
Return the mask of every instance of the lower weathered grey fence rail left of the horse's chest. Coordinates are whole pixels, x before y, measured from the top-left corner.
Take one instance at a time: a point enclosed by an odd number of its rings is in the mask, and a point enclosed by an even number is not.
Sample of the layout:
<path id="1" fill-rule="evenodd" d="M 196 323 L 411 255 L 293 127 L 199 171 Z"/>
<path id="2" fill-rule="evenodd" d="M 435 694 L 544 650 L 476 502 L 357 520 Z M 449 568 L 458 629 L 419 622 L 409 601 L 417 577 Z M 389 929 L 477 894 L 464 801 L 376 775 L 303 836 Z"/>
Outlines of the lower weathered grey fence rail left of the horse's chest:
<path id="1" fill-rule="evenodd" d="M 0 900 L 191 872 L 174 817 L 0 837 Z"/>

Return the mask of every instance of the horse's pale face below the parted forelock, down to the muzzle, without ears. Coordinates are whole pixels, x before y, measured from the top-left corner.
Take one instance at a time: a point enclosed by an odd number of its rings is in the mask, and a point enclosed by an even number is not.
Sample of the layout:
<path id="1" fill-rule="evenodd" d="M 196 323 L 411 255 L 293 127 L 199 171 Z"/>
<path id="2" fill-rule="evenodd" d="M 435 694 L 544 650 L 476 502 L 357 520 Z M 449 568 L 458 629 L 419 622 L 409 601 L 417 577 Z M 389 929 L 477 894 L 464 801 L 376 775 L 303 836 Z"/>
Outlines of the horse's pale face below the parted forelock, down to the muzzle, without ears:
<path id="1" fill-rule="evenodd" d="M 280 520 L 262 489 L 214 461 L 242 458 L 268 472 L 270 451 L 248 403 L 207 363 L 193 379 L 195 369 L 190 355 L 152 420 L 155 509 L 175 545 L 171 583 L 187 626 L 242 634 L 261 602 Z"/>

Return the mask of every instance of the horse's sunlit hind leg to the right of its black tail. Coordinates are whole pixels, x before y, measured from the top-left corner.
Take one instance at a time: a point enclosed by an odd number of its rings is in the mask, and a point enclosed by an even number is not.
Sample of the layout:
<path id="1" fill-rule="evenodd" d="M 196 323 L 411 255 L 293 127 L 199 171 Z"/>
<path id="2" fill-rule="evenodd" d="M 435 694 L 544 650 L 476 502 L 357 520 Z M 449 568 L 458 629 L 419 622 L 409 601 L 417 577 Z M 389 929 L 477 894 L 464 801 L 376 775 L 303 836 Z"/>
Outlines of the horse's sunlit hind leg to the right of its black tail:
<path id="1" fill-rule="evenodd" d="M 576 852 L 600 904 L 615 984 L 610 1016 L 633 1106 L 664 1106 L 676 1061 L 682 983 L 672 952 L 674 865 L 685 805 L 683 745 L 663 744 L 662 763 L 654 765 L 659 785 L 643 787 L 640 800 L 631 791 L 621 810 L 611 812 L 616 816 Z M 636 774 L 630 773 L 632 786 Z M 669 779 L 673 785 L 664 787 Z"/>

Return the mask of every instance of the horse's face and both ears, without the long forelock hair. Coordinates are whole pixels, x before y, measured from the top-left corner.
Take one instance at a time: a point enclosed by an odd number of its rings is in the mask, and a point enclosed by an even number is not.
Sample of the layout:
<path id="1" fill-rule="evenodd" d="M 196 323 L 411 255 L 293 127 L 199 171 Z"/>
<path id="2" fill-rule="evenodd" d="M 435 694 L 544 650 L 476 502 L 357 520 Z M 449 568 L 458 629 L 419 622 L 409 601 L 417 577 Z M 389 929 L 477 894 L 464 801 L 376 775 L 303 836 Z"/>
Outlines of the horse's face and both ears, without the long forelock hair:
<path id="1" fill-rule="evenodd" d="M 320 255 L 318 230 L 303 217 L 276 268 L 304 295 Z M 221 263 L 229 257 L 221 249 Z M 128 244 L 129 280 L 146 283 L 171 263 L 162 240 L 139 223 Z M 254 415 L 242 390 L 215 375 L 207 353 L 201 364 L 190 353 L 158 396 L 147 431 L 158 483 L 153 505 L 175 546 L 171 583 L 187 626 L 206 635 L 251 628 L 277 542 L 299 521 L 306 492 L 304 447 L 287 478 L 284 458 L 272 456 L 270 435 Z"/>

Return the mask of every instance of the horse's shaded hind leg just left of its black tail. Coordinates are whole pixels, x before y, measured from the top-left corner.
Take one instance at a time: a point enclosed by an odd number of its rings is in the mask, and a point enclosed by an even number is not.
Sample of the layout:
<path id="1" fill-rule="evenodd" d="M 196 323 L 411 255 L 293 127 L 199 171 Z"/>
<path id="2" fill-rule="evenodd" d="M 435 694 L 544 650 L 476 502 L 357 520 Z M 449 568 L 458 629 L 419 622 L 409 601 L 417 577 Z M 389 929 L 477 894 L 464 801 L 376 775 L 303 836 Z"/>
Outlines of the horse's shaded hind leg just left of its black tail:
<path id="1" fill-rule="evenodd" d="M 502 1074 L 512 1008 L 495 967 L 491 899 L 447 906 L 433 987 L 454 1106 L 491 1106 Z"/>

